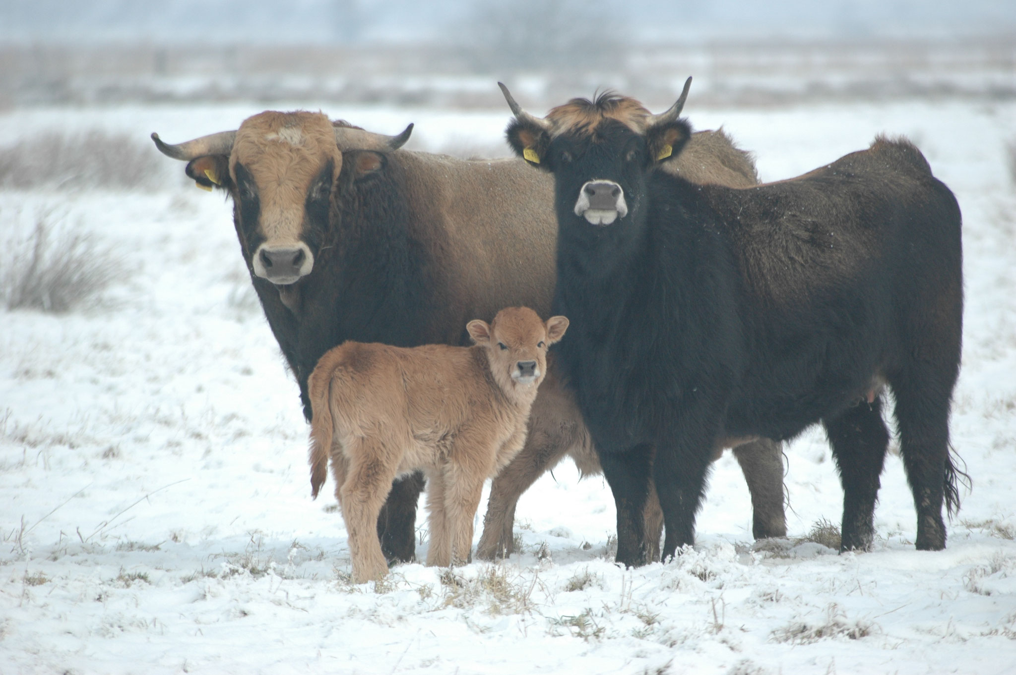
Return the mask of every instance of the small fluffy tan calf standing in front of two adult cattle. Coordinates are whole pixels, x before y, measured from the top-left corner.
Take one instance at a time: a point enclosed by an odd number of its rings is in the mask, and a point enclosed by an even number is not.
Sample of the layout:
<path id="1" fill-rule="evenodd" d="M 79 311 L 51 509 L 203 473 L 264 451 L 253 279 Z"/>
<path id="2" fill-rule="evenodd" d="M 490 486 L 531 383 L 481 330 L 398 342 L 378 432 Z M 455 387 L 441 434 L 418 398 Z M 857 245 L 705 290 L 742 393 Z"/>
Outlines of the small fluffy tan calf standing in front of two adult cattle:
<path id="1" fill-rule="evenodd" d="M 508 308 L 466 325 L 472 347 L 345 342 L 321 357 L 309 381 L 311 488 L 316 497 L 330 456 L 354 582 L 387 572 L 378 514 L 392 480 L 418 470 L 428 478 L 427 564 L 469 560 L 484 481 L 521 450 L 547 349 L 567 327 Z"/>

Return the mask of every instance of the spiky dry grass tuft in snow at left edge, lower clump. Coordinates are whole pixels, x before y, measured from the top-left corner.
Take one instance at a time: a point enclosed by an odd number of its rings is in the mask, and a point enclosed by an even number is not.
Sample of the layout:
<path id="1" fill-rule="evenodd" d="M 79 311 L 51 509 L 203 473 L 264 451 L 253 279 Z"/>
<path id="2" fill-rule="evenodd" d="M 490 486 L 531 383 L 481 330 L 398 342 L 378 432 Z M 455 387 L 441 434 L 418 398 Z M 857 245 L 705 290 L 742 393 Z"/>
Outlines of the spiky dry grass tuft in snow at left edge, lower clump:
<path id="1" fill-rule="evenodd" d="M 30 235 L 3 242 L 2 250 L 0 301 L 8 310 L 69 312 L 93 299 L 123 272 L 112 249 L 88 233 L 59 226 L 52 210 L 37 216 Z"/>

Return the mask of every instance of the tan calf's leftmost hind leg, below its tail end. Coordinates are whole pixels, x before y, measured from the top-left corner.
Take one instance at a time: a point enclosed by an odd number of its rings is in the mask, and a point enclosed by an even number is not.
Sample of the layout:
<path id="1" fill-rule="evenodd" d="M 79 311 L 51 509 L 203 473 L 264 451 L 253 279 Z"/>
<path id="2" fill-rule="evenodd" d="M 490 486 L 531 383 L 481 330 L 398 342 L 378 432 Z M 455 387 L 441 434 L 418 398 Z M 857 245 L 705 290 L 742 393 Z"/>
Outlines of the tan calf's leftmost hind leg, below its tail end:
<path id="1" fill-rule="evenodd" d="M 382 461 L 384 448 L 378 440 L 353 440 L 348 451 L 347 472 L 339 501 L 350 536 L 353 581 L 363 584 L 388 573 L 388 562 L 381 552 L 375 524 L 391 489 L 395 467 L 386 466 Z"/>

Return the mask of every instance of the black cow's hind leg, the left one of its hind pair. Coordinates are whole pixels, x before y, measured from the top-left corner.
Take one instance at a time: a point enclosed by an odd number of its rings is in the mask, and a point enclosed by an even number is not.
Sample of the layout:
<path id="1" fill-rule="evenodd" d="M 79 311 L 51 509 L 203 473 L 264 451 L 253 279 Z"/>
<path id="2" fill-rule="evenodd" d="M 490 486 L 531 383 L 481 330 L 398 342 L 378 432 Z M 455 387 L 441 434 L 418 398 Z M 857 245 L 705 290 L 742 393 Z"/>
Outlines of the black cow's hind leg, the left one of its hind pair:
<path id="1" fill-rule="evenodd" d="M 882 399 L 862 402 L 838 417 L 823 419 L 826 435 L 843 485 L 843 523 L 840 551 L 871 550 L 875 537 L 875 501 L 879 474 L 889 445 L 882 419 Z"/>

